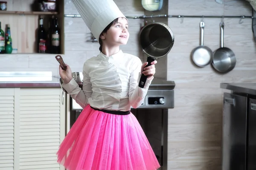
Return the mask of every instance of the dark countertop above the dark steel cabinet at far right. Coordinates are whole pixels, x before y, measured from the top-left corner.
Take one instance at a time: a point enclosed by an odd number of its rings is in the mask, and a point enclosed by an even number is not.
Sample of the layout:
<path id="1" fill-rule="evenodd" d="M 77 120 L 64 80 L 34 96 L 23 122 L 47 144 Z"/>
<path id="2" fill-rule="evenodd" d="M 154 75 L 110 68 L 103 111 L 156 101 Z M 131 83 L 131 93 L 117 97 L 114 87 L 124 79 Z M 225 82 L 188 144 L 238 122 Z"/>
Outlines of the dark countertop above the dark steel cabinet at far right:
<path id="1" fill-rule="evenodd" d="M 221 88 L 237 93 L 256 95 L 255 83 L 221 83 Z"/>

